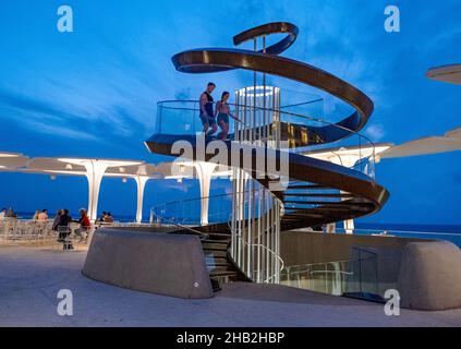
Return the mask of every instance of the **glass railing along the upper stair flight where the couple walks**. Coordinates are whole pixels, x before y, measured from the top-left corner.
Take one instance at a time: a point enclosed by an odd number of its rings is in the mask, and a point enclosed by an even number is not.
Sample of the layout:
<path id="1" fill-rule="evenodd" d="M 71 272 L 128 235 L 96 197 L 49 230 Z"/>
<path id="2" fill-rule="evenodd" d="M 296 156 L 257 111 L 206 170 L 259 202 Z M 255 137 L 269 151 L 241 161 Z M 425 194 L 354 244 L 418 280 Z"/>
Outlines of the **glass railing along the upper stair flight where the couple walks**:
<path id="1" fill-rule="evenodd" d="M 318 103 L 322 103 L 322 99 L 305 101 L 300 105 L 312 106 Z M 216 103 L 214 105 L 214 110 L 216 109 Z M 357 132 L 355 130 L 348 129 L 343 125 L 326 121 L 320 118 L 319 112 L 316 111 L 315 116 L 308 116 L 308 109 L 306 115 L 301 115 L 299 112 L 290 110 L 288 107 L 282 107 L 279 109 L 265 108 L 260 106 L 241 106 L 238 104 L 229 103 L 231 108 L 231 115 L 235 119 L 230 118 L 229 122 L 229 134 L 231 140 L 233 140 L 233 133 L 236 129 L 242 129 L 242 125 L 245 125 L 246 129 L 251 124 L 242 115 L 234 115 L 234 110 L 240 110 L 240 113 L 251 115 L 254 111 L 272 113 L 277 116 L 278 127 L 280 128 L 281 137 L 280 141 L 284 142 L 287 151 L 299 152 L 302 151 L 304 154 L 308 155 L 310 152 L 316 152 L 322 148 L 327 147 L 345 147 L 354 146 L 359 149 L 359 159 L 356 164 L 352 167 L 357 171 L 361 171 L 369 177 L 374 177 L 374 164 L 376 159 L 375 144 L 366 135 Z M 243 110 L 243 111 L 242 111 Z M 155 132 L 158 134 L 173 134 L 173 135 L 196 135 L 203 130 L 203 124 L 199 118 L 201 108 L 197 100 L 165 100 L 157 104 L 157 116 L 155 119 Z M 269 118 L 270 120 L 270 118 Z M 238 127 L 240 124 L 240 127 Z M 255 127 L 255 132 L 263 130 L 270 124 L 263 124 Z M 325 140 L 325 134 L 322 133 L 322 128 L 329 128 L 328 133 L 341 133 L 343 137 L 341 141 L 328 142 Z M 220 132 L 219 128 L 215 135 L 218 135 Z M 262 135 L 265 134 L 264 131 L 260 132 Z M 262 143 L 270 142 L 259 137 Z M 324 142 L 327 145 L 324 145 Z M 367 149 L 367 152 L 362 152 L 362 149 Z"/>

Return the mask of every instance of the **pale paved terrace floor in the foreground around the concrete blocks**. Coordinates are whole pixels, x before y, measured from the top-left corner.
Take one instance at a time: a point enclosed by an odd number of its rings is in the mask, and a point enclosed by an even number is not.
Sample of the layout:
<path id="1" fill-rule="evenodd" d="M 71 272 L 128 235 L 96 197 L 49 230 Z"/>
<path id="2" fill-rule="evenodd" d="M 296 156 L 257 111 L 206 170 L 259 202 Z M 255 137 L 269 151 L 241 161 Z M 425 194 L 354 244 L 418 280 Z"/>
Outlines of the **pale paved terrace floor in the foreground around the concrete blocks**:
<path id="1" fill-rule="evenodd" d="M 232 284 L 209 300 L 125 290 L 84 277 L 86 252 L 0 248 L 0 326 L 461 326 L 461 310 L 402 311 L 281 286 Z M 74 315 L 57 313 L 70 289 Z"/>

